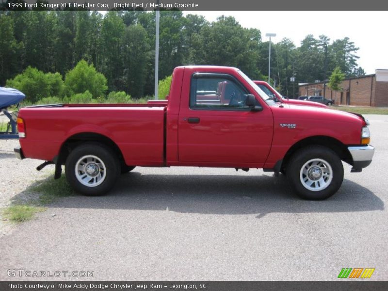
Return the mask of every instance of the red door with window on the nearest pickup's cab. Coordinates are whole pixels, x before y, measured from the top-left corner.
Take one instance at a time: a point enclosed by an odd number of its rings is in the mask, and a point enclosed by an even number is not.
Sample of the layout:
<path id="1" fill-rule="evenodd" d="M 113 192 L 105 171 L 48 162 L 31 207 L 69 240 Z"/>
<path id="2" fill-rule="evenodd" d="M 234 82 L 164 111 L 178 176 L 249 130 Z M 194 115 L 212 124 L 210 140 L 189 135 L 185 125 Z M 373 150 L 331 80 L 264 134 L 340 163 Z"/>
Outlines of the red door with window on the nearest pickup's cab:
<path id="1" fill-rule="evenodd" d="M 179 162 L 264 164 L 273 135 L 270 108 L 251 111 L 244 104 L 250 92 L 228 74 L 195 73 L 187 91 L 178 117 Z M 203 91 L 215 91 L 216 98 L 204 102 Z"/>

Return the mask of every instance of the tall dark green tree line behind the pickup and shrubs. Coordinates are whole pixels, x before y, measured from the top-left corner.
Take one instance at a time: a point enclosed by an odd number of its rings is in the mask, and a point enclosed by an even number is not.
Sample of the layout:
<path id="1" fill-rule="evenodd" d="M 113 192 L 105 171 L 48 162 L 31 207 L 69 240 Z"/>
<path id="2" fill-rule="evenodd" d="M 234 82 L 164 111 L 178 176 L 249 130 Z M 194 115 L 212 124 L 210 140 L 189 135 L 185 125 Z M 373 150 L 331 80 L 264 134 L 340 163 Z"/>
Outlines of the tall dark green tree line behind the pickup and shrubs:
<path id="1" fill-rule="evenodd" d="M 258 29 L 243 28 L 234 17 L 214 22 L 181 11 L 161 11 L 159 77 L 178 65 L 227 65 L 253 80 L 266 80 L 268 41 Z M 284 38 L 272 45 L 271 79 L 292 96 L 298 82 L 326 79 L 338 66 L 346 77 L 364 75 L 348 37 L 307 35 L 296 46 Z M 29 66 L 62 78 L 81 60 L 102 73 L 108 90 L 133 98 L 154 92 L 155 12 L 2 11 L 0 12 L 0 86 Z"/>

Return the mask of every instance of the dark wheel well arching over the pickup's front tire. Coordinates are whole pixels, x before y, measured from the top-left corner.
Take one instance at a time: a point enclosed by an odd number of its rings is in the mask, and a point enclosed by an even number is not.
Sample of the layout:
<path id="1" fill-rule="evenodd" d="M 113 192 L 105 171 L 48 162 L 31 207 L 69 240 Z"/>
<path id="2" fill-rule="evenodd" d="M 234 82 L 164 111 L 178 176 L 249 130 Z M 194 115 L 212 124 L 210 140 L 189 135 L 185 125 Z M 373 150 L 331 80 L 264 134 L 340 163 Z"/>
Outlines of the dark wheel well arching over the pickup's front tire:
<path id="1" fill-rule="evenodd" d="M 311 136 L 291 146 L 291 148 L 288 150 L 288 152 L 283 158 L 281 168 L 285 169 L 293 153 L 295 153 L 297 150 L 301 149 L 302 147 L 311 146 L 311 145 L 326 146 L 331 150 L 333 150 L 342 161 L 347 162 L 349 164 L 353 164 L 353 159 L 347 146 L 342 144 L 339 140 L 329 136 Z"/>

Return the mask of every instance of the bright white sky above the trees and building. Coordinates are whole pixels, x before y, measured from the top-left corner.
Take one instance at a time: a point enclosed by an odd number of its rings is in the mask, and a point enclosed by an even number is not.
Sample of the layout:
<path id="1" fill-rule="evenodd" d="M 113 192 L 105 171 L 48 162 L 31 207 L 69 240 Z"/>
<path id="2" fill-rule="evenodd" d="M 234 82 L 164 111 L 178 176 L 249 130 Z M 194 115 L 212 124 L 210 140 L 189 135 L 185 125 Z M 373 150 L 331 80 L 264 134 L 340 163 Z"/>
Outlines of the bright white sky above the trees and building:
<path id="1" fill-rule="evenodd" d="M 234 16 L 242 27 L 257 28 L 263 41 L 265 33 L 274 32 L 273 42 L 290 38 L 299 47 L 307 34 L 318 38 L 324 34 L 332 42 L 348 36 L 360 57 L 357 64 L 367 74 L 375 69 L 388 69 L 388 11 L 184 11 L 199 14 L 209 21 L 218 16 Z"/>

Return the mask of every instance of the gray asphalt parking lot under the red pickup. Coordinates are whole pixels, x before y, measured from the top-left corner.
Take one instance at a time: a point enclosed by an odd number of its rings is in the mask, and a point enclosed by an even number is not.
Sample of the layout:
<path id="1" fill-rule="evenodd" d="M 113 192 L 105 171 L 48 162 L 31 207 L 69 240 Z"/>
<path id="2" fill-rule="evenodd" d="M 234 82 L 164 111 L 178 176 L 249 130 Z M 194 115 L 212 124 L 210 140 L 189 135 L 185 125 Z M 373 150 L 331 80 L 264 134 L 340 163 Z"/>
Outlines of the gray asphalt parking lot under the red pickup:
<path id="1" fill-rule="evenodd" d="M 285 177 L 262 170 L 136 168 L 109 195 L 61 198 L 32 221 L 3 223 L 0 280 L 41 279 L 9 269 L 93 271 L 89 280 L 333 280 L 342 268 L 375 268 L 371 280 L 387 280 L 388 115 L 367 117 L 373 162 L 362 173 L 345 164 L 327 200 L 300 200 Z M 3 148 L 11 144 L 0 144 L 3 202 L 43 175 L 32 172 L 39 161 Z M 27 178 L 4 184 L 7 163 Z"/>

